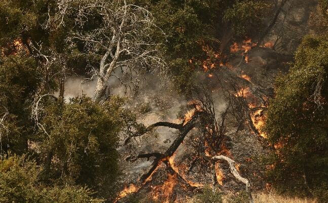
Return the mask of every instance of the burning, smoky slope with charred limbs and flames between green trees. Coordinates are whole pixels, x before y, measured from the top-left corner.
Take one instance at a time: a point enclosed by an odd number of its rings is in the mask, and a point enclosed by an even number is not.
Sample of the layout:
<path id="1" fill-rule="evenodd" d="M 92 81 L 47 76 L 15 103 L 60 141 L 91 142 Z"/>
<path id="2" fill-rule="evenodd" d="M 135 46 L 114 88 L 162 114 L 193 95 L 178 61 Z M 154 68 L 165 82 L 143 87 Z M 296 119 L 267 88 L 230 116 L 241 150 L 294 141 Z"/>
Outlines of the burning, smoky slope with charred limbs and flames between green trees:
<path id="1" fill-rule="evenodd" d="M 247 39 L 231 46 L 229 62 L 221 62 L 229 56 L 220 54 L 215 55 L 214 65 L 205 61 L 198 77 L 203 89 L 197 94 L 195 87 L 192 99 L 172 96 L 165 87 L 145 88 L 145 97 L 141 90 L 130 108 L 139 109 L 145 131 L 128 138 L 129 144 L 121 149 L 132 162 L 122 162 L 126 188 L 117 202 L 129 202 L 129 196 L 135 194 L 147 194 L 159 202 L 191 196 L 212 184 L 209 159 L 217 155 L 235 160 L 235 168 L 252 187 L 263 188 L 263 170 L 254 157 L 267 150 L 260 137 L 265 138 L 261 127 L 272 94 L 262 84 L 271 83 L 268 80 L 279 66 L 273 66 L 270 47 L 270 43 L 258 47 Z M 262 77 L 266 74 L 270 78 Z M 244 188 L 225 162 L 215 163 L 215 174 L 223 191 Z"/>

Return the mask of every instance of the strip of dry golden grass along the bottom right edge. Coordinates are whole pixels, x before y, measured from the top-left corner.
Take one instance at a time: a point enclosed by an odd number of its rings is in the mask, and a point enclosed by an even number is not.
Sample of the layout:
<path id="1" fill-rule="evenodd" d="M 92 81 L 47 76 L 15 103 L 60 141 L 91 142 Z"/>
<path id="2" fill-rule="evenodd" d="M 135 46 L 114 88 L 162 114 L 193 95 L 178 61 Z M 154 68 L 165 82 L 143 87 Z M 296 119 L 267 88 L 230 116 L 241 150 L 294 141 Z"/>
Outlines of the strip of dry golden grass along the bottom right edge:
<path id="1" fill-rule="evenodd" d="M 315 200 L 303 198 L 291 198 L 275 193 L 259 193 L 253 195 L 256 203 L 316 203 Z"/>

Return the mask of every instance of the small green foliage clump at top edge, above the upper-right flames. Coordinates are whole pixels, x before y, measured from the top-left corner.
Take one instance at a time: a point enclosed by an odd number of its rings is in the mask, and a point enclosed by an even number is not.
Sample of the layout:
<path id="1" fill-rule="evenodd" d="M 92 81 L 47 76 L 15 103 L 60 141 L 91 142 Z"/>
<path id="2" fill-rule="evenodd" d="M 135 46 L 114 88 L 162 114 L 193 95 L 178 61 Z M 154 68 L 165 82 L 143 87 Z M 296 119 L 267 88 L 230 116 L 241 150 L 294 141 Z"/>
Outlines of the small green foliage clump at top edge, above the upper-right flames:
<path id="1" fill-rule="evenodd" d="M 236 36 L 252 37 L 264 28 L 263 16 L 268 8 L 269 5 L 261 1 L 237 1 L 225 11 L 223 20 L 231 24 Z"/>

